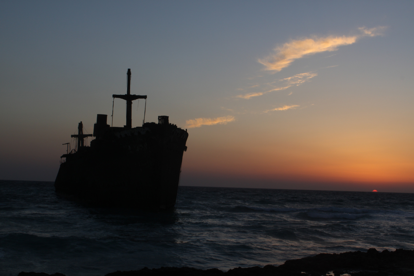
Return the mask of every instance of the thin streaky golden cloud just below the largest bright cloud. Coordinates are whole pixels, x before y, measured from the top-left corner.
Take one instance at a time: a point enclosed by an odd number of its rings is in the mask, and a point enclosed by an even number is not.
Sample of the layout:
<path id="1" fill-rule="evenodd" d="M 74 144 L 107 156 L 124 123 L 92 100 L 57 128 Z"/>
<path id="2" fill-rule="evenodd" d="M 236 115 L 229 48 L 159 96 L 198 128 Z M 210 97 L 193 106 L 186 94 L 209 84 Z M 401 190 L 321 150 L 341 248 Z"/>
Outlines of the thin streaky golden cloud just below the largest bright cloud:
<path id="1" fill-rule="evenodd" d="M 291 86 L 298 86 L 298 85 L 303 84 L 304 82 L 308 82 L 310 79 L 316 76 L 318 76 L 318 73 L 315 73 L 315 72 L 306 72 L 306 73 L 296 74 L 292 77 L 288 77 L 285 79 L 279 79 L 277 81 L 262 85 L 265 87 L 265 90 L 250 92 L 247 94 L 238 95 L 236 97 L 243 98 L 243 99 L 250 99 L 251 97 L 262 96 L 263 94 L 266 94 L 269 92 L 285 90 Z M 250 88 L 258 88 L 258 87 L 259 85 L 253 85 L 248 88 L 250 89 Z"/>

